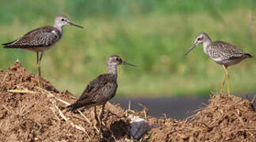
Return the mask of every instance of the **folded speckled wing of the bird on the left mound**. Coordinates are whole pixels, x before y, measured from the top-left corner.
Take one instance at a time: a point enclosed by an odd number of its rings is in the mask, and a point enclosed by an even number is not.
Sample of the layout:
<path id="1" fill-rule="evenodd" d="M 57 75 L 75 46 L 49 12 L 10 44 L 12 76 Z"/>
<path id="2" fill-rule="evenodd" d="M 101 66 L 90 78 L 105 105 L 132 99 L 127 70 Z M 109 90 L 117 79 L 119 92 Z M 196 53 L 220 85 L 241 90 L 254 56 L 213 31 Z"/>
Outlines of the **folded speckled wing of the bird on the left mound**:
<path id="1" fill-rule="evenodd" d="M 46 26 L 36 28 L 25 34 L 21 38 L 11 42 L 2 44 L 8 48 L 29 48 L 29 47 L 49 47 L 61 38 L 61 34 L 57 28 Z"/>

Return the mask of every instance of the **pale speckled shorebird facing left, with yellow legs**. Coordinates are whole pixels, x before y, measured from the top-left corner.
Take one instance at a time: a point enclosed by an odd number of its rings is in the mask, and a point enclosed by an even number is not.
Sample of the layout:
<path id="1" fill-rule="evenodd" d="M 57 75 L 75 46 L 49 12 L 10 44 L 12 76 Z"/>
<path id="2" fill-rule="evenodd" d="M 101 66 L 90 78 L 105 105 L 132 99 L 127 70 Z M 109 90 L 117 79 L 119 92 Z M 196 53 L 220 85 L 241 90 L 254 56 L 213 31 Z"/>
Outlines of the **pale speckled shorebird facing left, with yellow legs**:
<path id="1" fill-rule="evenodd" d="M 227 72 L 227 67 L 230 65 L 235 65 L 243 61 L 243 59 L 253 58 L 253 56 L 239 50 L 237 47 L 235 47 L 235 45 L 232 45 L 231 43 L 226 43 L 223 41 L 212 42 L 210 37 L 205 32 L 201 32 L 197 35 L 197 38 L 195 39 L 192 47 L 189 48 L 185 55 L 189 54 L 189 51 L 193 50 L 193 48 L 197 47 L 199 44 L 203 45 L 205 54 L 212 58 L 213 61 L 223 66 L 225 73 L 220 92 L 223 91 L 225 78 L 227 75 L 227 94 L 230 95 L 230 76 Z"/>

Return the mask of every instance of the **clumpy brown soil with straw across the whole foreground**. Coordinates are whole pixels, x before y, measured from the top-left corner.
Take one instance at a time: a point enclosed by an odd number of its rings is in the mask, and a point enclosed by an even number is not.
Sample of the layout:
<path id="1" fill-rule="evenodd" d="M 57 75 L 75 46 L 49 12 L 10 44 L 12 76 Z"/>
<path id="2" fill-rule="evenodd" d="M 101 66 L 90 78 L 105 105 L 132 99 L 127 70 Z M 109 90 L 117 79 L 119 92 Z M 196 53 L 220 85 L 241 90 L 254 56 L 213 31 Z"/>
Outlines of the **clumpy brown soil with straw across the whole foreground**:
<path id="1" fill-rule="evenodd" d="M 0 141 L 97 141 L 94 109 L 82 114 L 65 110 L 76 99 L 59 92 L 16 62 L 0 70 Z M 22 91 L 22 92 L 21 92 Z M 98 112 L 100 107 L 98 107 Z M 144 112 L 128 112 L 108 103 L 102 141 L 132 141 L 129 115 L 146 118 L 152 128 L 142 141 L 256 141 L 256 113 L 249 100 L 236 96 L 212 95 L 209 105 L 187 121 L 151 118 Z"/>

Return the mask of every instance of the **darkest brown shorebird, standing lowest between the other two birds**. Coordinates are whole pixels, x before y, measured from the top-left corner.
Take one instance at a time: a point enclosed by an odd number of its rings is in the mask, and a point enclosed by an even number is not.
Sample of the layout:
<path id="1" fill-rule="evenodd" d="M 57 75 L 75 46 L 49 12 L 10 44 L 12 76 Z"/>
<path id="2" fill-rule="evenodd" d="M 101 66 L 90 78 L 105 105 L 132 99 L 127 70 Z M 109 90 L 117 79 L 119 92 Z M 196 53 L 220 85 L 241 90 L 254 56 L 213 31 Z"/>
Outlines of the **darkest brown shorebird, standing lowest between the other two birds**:
<path id="1" fill-rule="evenodd" d="M 109 56 L 107 59 L 108 73 L 101 74 L 96 79 L 90 81 L 79 99 L 67 107 L 69 110 L 94 107 L 94 117 L 100 125 L 99 140 L 101 140 L 101 120 L 104 114 L 105 103 L 112 99 L 117 92 L 117 65 L 132 64 L 124 62 L 118 55 Z M 97 118 L 96 106 L 102 106 L 100 120 Z"/>

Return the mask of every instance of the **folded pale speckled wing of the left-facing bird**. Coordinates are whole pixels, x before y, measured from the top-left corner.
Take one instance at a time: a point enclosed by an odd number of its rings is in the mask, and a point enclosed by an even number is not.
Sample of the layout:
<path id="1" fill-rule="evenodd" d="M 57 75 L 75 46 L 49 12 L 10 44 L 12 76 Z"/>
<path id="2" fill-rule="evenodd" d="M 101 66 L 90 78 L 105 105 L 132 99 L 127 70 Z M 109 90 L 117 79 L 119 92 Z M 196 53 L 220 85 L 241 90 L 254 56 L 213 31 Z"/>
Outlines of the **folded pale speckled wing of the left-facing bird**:
<path id="1" fill-rule="evenodd" d="M 243 58 L 244 52 L 230 43 L 216 41 L 209 45 L 208 54 L 216 60 L 227 60 L 231 58 Z"/>

